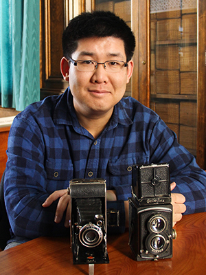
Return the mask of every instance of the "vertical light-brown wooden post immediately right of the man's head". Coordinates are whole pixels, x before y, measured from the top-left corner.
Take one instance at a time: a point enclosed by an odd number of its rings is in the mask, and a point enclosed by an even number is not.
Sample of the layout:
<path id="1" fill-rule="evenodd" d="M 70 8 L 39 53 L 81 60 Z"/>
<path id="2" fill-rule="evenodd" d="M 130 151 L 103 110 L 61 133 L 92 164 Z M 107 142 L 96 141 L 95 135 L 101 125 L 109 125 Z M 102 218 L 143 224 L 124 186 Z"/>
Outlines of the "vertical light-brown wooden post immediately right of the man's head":
<path id="1" fill-rule="evenodd" d="M 150 107 L 150 1 L 131 0 L 131 14 L 136 39 L 132 96 Z"/>

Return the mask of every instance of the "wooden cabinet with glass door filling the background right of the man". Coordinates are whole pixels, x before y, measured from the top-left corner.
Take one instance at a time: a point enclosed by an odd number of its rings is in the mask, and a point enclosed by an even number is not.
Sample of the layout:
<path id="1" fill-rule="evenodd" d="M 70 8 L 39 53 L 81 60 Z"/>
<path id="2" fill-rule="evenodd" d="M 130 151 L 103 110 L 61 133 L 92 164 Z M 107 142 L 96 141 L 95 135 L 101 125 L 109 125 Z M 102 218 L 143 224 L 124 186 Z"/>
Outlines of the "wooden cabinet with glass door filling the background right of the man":
<path id="1" fill-rule="evenodd" d="M 156 111 L 206 169 L 206 1 L 91 1 L 93 9 L 122 17 L 135 34 L 126 96 Z"/>

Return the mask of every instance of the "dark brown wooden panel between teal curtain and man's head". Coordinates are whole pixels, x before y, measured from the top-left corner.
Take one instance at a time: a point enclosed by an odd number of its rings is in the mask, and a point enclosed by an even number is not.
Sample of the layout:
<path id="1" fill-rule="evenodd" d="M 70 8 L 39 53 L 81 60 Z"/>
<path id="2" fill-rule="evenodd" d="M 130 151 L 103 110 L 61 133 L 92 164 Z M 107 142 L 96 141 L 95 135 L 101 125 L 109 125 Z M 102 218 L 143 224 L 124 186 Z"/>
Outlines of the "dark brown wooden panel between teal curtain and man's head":
<path id="1" fill-rule="evenodd" d="M 41 0 L 41 98 L 68 86 L 60 73 L 62 32 L 69 16 L 65 10 L 65 0 Z"/>

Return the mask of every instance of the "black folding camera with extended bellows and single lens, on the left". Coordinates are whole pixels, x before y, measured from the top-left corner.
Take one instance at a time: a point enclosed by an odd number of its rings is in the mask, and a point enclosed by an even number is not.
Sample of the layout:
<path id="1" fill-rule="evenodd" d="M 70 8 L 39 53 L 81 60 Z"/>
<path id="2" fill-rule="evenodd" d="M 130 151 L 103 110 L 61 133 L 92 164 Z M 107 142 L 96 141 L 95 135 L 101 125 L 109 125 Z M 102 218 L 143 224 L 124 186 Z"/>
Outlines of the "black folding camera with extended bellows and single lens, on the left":
<path id="1" fill-rule="evenodd" d="M 106 181 L 104 179 L 72 179 L 69 190 L 73 263 L 108 263 Z"/>

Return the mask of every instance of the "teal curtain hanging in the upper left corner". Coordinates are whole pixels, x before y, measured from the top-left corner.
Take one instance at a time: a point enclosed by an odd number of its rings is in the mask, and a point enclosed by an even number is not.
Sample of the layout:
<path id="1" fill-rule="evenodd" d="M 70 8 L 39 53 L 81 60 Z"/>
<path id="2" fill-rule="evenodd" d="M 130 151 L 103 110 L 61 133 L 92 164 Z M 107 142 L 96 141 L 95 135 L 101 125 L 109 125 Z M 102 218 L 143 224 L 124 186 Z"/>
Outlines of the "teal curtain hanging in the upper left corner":
<path id="1" fill-rule="evenodd" d="M 39 0 L 0 0 L 1 107 L 40 100 Z"/>

